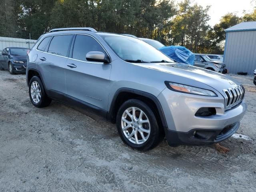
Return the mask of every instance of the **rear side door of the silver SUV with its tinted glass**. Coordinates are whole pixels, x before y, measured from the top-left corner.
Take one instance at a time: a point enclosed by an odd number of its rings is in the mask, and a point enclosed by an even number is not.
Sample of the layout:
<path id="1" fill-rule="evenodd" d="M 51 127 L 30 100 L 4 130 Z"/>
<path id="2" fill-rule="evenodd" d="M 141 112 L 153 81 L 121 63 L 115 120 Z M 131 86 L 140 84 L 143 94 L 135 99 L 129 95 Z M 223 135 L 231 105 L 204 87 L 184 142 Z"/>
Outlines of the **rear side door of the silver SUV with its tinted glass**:
<path id="1" fill-rule="evenodd" d="M 38 46 L 38 50 L 41 50 L 37 67 L 50 94 L 66 94 L 65 68 L 73 36 L 68 34 L 46 37 L 48 39 L 45 38 L 45 42 L 43 40 Z M 53 95 L 56 96 L 58 95 Z"/>

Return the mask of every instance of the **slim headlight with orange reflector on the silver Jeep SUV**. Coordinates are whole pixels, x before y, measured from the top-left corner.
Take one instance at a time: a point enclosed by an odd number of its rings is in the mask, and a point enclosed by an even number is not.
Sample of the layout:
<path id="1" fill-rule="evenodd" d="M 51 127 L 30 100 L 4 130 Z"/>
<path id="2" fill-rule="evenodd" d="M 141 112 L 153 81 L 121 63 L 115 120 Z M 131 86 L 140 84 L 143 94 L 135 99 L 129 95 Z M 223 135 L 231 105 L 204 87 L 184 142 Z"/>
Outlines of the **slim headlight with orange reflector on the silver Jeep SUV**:
<path id="1" fill-rule="evenodd" d="M 207 89 L 192 87 L 192 86 L 168 82 L 168 81 L 166 81 L 165 84 L 172 91 L 194 94 L 194 95 L 202 95 L 202 96 L 212 96 L 212 97 L 217 96 L 216 93 L 214 93 L 213 91 L 207 90 Z"/>

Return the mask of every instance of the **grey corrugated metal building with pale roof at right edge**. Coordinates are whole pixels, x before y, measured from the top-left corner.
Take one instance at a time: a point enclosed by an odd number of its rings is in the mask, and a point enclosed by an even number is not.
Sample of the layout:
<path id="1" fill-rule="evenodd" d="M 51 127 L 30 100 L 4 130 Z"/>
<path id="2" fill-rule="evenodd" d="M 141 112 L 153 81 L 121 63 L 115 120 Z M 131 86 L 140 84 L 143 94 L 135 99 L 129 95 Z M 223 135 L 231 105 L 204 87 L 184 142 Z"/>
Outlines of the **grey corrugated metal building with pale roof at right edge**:
<path id="1" fill-rule="evenodd" d="M 256 22 L 242 22 L 225 30 L 224 63 L 228 72 L 248 72 L 256 69 Z"/>

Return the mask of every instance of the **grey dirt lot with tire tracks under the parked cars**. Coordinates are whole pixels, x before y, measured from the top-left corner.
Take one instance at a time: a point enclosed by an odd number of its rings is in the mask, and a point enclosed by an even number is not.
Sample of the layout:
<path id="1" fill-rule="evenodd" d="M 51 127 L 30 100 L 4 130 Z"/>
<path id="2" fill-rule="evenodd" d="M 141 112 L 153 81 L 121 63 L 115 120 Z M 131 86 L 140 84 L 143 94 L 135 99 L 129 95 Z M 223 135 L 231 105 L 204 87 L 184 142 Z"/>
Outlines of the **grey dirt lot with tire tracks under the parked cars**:
<path id="1" fill-rule="evenodd" d="M 256 191 L 256 86 L 246 88 L 248 110 L 236 137 L 212 146 L 149 152 L 125 146 L 116 125 L 54 101 L 32 106 L 25 75 L 0 71 L 0 191 Z M 248 138 L 246 137 L 248 136 Z"/>

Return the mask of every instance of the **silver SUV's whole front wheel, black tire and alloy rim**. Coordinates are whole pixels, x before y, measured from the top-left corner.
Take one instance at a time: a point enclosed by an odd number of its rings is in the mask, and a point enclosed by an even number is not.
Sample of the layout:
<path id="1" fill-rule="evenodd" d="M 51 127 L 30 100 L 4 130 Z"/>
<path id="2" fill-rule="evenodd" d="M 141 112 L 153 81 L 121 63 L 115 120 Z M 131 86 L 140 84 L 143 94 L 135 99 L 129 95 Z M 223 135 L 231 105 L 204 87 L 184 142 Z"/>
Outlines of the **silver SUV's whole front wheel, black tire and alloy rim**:
<path id="1" fill-rule="evenodd" d="M 162 132 L 154 112 L 140 100 L 131 99 L 122 104 L 116 126 L 122 141 L 137 150 L 150 150 L 161 140 Z"/>

